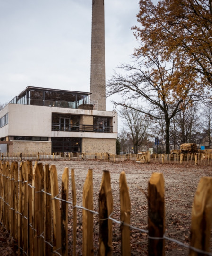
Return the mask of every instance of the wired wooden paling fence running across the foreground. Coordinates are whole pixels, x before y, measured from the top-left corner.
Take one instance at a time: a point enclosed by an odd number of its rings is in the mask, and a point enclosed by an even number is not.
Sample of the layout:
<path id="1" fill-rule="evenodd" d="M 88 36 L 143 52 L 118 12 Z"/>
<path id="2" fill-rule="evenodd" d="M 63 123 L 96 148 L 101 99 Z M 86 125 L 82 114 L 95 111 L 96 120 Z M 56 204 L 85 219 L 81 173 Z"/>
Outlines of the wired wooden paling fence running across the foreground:
<path id="1" fill-rule="evenodd" d="M 210 255 L 212 222 L 212 177 L 203 177 L 194 197 L 190 245 L 165 235 L 164 179 L 153 173 L 148 183 L 148 230 L 130 225 L 130 197 L 125 173 L 120 174 L 120 219 L 113 219 L 113 197 L 109 171 L 104 171 L 99 192 L 99 211 L 93 210 L 93 173 L 83 187 L 83 205 L 77 205 L 74 170 L 71 170 L 72 202 L 68 198 L 69 170 L 62 174 L 61 192 L 55 165 L 31 161 L 0 162 L 0 224 L 18 241 L 19 255 L 69 255 L 68 205 L 72 205 L 72 254 L 77 237 L 77 209 L 82 214 L 82 255 L 94 255 L 93 217 L 98 215 L 98 254 L 112 255 L 112 222 L 121 230 L 121 253 L 130 255 L 130 229 L 148 234 L 148 255 L 162 256 L 165 240 L 189 249 L 190 256 Z M 141 238 L 142 239 L 142 238 Z M 144 238 L 146 239 L 146 238 Z"/>

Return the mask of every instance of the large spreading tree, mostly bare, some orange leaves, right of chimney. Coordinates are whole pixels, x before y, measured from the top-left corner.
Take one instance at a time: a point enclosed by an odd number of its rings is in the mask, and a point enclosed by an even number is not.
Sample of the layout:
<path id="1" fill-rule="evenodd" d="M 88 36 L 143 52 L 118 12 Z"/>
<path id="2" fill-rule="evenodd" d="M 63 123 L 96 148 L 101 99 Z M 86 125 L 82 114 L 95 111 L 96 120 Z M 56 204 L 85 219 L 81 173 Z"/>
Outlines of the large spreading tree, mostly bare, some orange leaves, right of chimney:
<path id="1" fill-rule="evenodd" d="M 115 105 L 132 108 L 155 119 L 163 119 L 166 123 L 166 153 L 169 149 L 169 127 L 171 119 L 181 110 L 192 103 L 194 98 L 201 95 L 196 87 L 196 80 L 192 70 L 185 69 L 186 64 L 181 60 L 177 63 L 161 61 L 160 55 L 154 51 L 142 49 L 141 54 L 135 56 L 133 65 L 125 64 L 121 68 L 127 75 L 115 73 L 107 82 L 107 95 L 119 93 L 122 101 L 115 101 Z M 199 90 L 199 91 L 198 91 Z M 132 100 L 138 104 L 148 103 L 146 109 L 132 105 Z M 161 111 L 163 116 L 159 116 Z"/>

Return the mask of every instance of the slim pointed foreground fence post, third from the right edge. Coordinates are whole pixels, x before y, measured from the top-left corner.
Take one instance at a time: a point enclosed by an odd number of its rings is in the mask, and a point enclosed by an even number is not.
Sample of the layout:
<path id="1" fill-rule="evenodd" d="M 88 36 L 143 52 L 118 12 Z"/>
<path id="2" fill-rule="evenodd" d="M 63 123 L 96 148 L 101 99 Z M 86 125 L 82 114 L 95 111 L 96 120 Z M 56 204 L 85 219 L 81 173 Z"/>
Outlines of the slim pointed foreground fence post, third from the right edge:
<path id="1" fill-rule="evenodd" d="M 119 179 L 121 221 L 130 225 L 130 196 L 125 172 L 121 172 Z M 121 225 L 122 256 L 130 255 L 130 227 Z"/>

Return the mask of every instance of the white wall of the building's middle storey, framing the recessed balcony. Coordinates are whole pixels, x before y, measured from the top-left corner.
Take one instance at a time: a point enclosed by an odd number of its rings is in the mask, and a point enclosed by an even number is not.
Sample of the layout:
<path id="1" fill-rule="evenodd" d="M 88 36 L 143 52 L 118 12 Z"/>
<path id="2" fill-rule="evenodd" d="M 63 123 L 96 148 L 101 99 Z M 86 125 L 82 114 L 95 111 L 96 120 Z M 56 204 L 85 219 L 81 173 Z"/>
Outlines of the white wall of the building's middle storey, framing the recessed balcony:
<path id="1" fill-rule="evenodd" d="M 78 115 L 113 117 L 114 133 L 56 132 L 51 131 L 52 112 Z M 8 104 L 0 111 L 0 117 L 8 114 L 9 125 L 0 128 L 0 137 L 44 136 L 44 137 L 89 137 L 117 138 L 117 113 L 112 111 L 79 110 L 33 105 Z"/>

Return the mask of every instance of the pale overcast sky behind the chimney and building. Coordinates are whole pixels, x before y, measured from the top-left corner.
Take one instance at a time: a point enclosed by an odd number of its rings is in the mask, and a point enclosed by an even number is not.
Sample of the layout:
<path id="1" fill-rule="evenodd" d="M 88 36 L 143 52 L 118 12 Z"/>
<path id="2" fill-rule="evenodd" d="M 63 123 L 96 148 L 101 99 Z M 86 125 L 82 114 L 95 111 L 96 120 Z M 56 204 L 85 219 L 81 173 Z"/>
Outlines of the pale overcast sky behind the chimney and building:
<path id="1" fill-rule="evenodd" d="M 130 61 L 138 12 L 139 0 L 105 0 L 106 79 Z M 27 86 L 88 92 L 91 14 L 92 0 L 0 0 L 0 103 Z"/>

